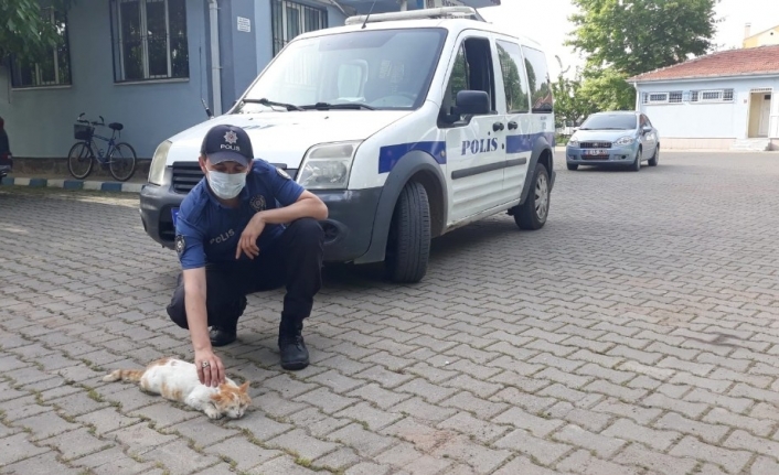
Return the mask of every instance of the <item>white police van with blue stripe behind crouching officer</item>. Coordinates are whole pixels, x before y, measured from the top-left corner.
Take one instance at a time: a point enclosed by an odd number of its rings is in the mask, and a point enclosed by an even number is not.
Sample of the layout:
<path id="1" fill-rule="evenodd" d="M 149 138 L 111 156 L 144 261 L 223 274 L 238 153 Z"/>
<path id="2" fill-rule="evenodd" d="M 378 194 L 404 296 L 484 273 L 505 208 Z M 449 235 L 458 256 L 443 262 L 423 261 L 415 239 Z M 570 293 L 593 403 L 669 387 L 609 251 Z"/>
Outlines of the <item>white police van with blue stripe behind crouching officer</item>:
<path id="1" fill-rule="evenodd" d="M 258 159 L 324 201 L 326 262 L 383 261 L 396 282 L 424 278 L 431 238 L 502 212 L 521 229 L 548 216 L 545 55 L 468 7 L 351 17 L 301 34 L 226 114 L 161 143 L 140 214 L 168 248 L 216 123 L 246 129 Z"/>

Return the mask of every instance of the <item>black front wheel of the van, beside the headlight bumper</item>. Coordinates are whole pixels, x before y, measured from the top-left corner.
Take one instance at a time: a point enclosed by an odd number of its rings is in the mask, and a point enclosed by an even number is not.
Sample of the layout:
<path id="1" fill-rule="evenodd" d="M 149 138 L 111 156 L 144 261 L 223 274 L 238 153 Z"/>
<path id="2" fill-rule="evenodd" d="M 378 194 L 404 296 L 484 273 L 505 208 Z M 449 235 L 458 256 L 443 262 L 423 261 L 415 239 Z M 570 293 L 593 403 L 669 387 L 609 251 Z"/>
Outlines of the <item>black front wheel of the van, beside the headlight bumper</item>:
<path id="1" fill-rule="evenodd" d="M 430 257 L 430 205 L 427 191 L 408 182 L 395 204 L 385 258 L 386 274 L 393 282 L 416 283 L 427 272 Z"/>

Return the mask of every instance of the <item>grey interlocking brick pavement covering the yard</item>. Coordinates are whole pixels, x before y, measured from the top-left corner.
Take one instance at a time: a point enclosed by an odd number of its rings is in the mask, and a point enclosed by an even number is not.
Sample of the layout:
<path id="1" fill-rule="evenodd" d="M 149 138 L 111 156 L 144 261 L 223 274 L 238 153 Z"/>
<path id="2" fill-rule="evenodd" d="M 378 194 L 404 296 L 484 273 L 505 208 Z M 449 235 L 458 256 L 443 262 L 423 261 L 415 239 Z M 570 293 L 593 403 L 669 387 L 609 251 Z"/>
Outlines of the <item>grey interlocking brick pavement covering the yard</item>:
<path id="1" fill-rule="evenodd" d="M 776 475 L 778 159 L 561 170 L 543 230 L 459 229 L 420 284 L 330 269 L 299 373 L 252 295 L 216 422 L 100 380 L 191 356 L 137 197 L 0 187 L 0 473 Z"/>

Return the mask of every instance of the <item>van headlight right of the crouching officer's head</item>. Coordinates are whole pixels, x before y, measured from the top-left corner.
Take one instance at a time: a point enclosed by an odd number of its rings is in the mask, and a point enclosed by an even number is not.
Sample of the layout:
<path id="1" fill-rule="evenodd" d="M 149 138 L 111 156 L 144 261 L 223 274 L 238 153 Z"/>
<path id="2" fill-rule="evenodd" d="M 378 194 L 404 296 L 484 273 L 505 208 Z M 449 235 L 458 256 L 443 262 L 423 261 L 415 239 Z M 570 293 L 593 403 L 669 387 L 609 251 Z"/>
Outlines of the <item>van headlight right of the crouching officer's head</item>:
<path id="1" fill-rule="evenodd" d="M 344 190 L 361 142 L 323 143 L 309 149 L 297 182 L 307 190 Z"/>

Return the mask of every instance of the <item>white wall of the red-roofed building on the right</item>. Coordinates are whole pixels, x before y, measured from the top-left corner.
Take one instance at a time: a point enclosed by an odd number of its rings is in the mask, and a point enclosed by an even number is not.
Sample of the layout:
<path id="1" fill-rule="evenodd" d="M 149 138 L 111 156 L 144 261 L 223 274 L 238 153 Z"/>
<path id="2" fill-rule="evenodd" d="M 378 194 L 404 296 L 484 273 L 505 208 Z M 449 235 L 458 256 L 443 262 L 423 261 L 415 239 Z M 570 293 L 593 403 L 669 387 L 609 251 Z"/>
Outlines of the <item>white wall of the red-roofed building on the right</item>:
<path id="1" fill-rule="evenodd" d="M 748 131 L 749 91 L 773 89 L 769 137 L 779 138 L 779 75 L 768 78 L 676 80 L 639 84 L 639 110 L 647 114 L 661 137 L 696 139 L 744 139 Z M 643 93 L 734 89 L 733 102 L 640 104 Z"/>

